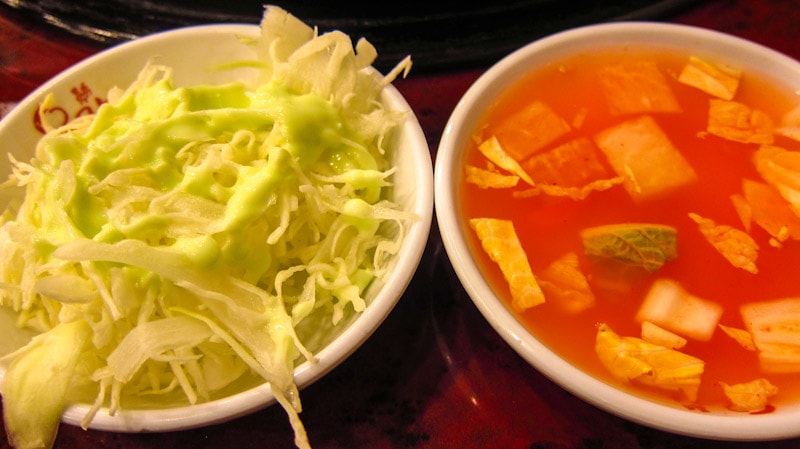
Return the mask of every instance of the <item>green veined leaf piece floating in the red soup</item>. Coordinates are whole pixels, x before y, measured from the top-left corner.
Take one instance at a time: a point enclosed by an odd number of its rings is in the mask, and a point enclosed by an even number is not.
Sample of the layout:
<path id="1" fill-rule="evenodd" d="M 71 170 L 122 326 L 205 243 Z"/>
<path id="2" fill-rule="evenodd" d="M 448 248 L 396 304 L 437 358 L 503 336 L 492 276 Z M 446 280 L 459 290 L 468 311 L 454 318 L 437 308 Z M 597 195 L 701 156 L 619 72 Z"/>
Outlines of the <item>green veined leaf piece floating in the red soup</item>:
<path id="1" fill-rule="evenodd" d="M 658 271 L 678 256 L 677 231 L 660 224 L 621 223 L 581 231 L 583 252 L 593 258 Z"/>

